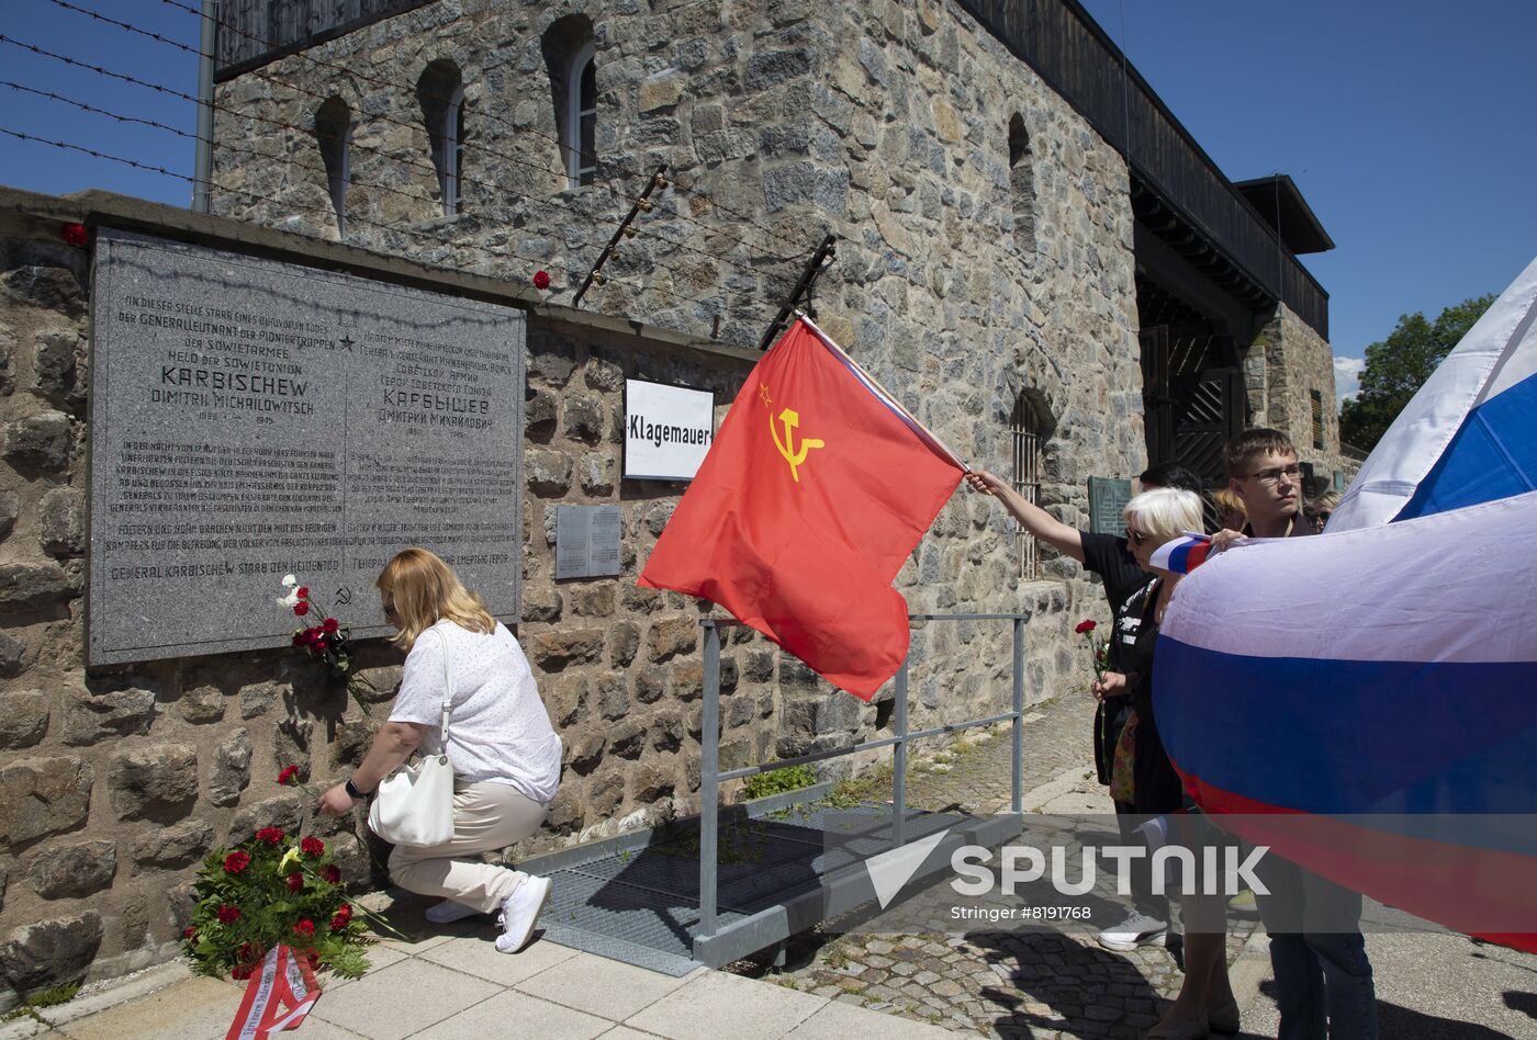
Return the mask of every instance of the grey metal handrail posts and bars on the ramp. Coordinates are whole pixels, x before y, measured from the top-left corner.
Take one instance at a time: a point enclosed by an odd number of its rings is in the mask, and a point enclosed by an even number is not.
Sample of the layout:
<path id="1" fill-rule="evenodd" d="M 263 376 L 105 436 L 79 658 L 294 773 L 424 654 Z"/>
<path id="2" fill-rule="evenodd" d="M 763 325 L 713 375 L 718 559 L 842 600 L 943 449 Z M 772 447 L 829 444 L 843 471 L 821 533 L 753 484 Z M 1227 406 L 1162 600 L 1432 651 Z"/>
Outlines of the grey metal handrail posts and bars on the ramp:
<path id="1" fill-rule="evenodd" d="M 907 810 L 907 745 L 922 737 L 939 736 L 941 733 L 959 733 L 982 725 L 1013 722 L 1013 787 L 1010 806 L 1013 813 L 1021 813 L 1024 806 L 1024 753 L 1025 753 L 1025 622 L 1030 614 L 908 614 L 908 621 L 1011 621 L 1014 630 L 1013 645 L 1013 710 L 985 719 L 967 719 L 965 722 L 948 722 L 916 733 L 907 731 L 907 659 L 898 668 L 895 677 L 895 710 L 891 714 L 893 734 L 879 740 L 865 740 L 847 748 L 828 751 L 813 751 L 793 759 L 775 762 L 759 762 L 721 773 L 721 628 L 739 628 L 742 622 L 736 619 L 704 618 L 704 730 L 699 734 L 702 757 L 699 762 L 699 937 L 715 936 L 719 925 L 718 906 L 718 873 L 719 873 L 719 840 L 721 830 L 721 782 L 738 780 L 744 776 L 756 776 L 772 770 L 784 770 L 793 765 L 810 765 L 827 759 L 871 751 L 895 745 L 891 751 L 891 846 L 904 843 L 905 810 Z"/>

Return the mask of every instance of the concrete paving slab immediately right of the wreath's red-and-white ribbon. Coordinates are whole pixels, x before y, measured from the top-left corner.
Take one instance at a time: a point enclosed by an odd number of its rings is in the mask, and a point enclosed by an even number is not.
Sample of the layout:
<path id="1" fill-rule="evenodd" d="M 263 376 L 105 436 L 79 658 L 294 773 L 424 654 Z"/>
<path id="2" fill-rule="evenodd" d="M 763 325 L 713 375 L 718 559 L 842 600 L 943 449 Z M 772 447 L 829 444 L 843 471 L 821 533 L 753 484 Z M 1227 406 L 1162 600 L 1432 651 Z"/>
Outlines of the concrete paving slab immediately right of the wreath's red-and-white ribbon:
<path id="1" fill-rule="evenodd" d="M 309 1017 L 373 1040 L 401 1040 L 496 992 L 484 979 L 412 957 L 326 994 Z"/>

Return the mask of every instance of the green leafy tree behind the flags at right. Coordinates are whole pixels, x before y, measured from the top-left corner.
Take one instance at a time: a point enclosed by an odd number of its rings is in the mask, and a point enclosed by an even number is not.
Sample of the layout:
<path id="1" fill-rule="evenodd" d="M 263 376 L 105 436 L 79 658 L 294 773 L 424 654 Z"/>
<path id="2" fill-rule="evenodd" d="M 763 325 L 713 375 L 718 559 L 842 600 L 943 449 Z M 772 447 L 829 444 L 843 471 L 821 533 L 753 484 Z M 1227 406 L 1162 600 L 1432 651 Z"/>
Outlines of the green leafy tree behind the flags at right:
<path id="1" fill-rule="evenodd" d="M 1386 339 L 1366 347 L 1360 393 L 1340 407 L 1340 441 L 1369 452 L 1409 398 L 1494 303 L 1494 293 L 1452 304 L 1428 321 L 1423 312 L 1402 315 Z"/>

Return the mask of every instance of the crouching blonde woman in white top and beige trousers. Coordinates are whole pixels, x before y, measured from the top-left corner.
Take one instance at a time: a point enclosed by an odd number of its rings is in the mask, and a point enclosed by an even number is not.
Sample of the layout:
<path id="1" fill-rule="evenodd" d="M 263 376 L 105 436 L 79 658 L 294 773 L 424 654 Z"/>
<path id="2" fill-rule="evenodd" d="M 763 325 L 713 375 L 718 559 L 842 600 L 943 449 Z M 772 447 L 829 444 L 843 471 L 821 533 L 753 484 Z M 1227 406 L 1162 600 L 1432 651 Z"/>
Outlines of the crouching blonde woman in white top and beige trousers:
<path id="1" fill-rule="evenodd" d="M 496 949 L 518 952 L 533 934 L 550 882 L 481 862 L 481 853 L 539 830 L 559 785 L 561 739 L 518 641 L 447 564 L 426 548 L 407 548 L 384 565 L 375 585 L 406 668 L 389 722 L 363 765 L 321 796 L 320 811 L 352 810 L 412 751 L 440 753 L 444 676 L 452 676 L 446 750 L 453 765 L 453 837 L 433 846 L 397 845 L 389 874 L 407 891 L 444 897 L 427 909 L 433 923 L 500 911 Z"/>

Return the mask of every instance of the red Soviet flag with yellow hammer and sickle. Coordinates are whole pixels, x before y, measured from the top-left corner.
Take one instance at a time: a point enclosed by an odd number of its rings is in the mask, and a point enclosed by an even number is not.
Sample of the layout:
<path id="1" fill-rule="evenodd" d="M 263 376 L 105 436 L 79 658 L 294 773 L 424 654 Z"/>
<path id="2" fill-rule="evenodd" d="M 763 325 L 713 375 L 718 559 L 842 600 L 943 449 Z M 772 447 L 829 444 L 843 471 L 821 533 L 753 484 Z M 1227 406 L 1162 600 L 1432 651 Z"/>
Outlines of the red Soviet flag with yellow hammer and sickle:
<path id="1" fill-rule="evenodd" d="M 742 384 L 639 584 L 719 604 L 868 701 L 907 656 L 891 579 L 964 470 L 801 318 Z"/>

